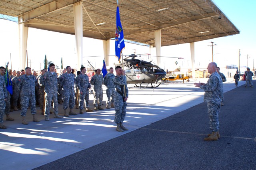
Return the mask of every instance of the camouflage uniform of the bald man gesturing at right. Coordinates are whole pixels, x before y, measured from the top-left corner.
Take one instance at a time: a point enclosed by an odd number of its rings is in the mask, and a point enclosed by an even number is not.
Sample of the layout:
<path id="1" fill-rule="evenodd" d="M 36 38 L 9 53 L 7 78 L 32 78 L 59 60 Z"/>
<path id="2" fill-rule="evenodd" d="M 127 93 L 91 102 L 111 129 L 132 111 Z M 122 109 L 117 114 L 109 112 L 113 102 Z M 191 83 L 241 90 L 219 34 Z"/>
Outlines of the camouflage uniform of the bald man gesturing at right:
<path id="1" fill-rule="evenodd" d="M 220 75 L 217 72 L 212 73 L 206 85 L 201 85 L 200 88 L 205 91 L 204 101 L 207 102 L 210 130 L 216 132 L 219 130 L 218 116 L 223 93 L 223 84 Z"/>

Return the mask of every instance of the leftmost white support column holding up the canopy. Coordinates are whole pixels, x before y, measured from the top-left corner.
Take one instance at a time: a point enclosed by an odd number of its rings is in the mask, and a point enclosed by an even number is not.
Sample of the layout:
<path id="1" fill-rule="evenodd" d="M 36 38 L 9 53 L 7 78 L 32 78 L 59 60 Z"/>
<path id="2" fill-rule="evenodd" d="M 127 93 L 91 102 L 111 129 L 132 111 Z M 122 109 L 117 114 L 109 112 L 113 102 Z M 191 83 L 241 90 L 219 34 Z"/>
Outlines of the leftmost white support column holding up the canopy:
<path id="1" fill-rule="evenodd" d="M 19 24 L 19 48 L 20 48 L 20 70 L 26 67 L 26 50 L 28 42 L 28 27 L 25 27 L 22 18 L 18 18 Z"/>

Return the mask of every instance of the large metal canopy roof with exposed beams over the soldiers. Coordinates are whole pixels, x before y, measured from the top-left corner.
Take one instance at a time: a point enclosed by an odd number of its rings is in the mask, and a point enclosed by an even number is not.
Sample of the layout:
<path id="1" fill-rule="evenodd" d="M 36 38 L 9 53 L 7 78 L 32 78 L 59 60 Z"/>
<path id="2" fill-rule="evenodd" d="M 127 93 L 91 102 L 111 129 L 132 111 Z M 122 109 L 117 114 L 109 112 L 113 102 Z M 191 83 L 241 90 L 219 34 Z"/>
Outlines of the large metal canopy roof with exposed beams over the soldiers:
<path id="1" fill-rule="evenodd" d="M 0 0 L 0 14 L 22 18 L 25 26 L 75 34 L 73 4 L 79 0 Z M 83 36 L 115 37 L 116 0 L 82 0 Z M 211 0 L 119 0 L 124 38 L 155 46 L 198 42 L 240 31 Z M 104 24 L 100 24 L 104 23 Z M 99 24 L 99 25 L 97 25 Z"/>

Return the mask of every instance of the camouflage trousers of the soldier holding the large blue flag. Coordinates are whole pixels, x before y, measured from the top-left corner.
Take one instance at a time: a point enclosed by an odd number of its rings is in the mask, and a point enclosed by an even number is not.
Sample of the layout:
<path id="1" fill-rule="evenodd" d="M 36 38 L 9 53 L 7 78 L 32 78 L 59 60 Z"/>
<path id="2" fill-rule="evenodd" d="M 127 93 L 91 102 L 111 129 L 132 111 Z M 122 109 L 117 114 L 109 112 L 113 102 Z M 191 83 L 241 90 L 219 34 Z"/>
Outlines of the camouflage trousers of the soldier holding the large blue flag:
<path id="1" fill-rule="evenodd" d="M 125 115 L 126 115 L 126 107 L 127 103 L 126 101 L 123 101 L 123 97 L 119 95 L 119 93 L 115 92 L 115 110 L 116 110 L 116 115 L 115 115 L 115 123 L 123 123 Z"/>

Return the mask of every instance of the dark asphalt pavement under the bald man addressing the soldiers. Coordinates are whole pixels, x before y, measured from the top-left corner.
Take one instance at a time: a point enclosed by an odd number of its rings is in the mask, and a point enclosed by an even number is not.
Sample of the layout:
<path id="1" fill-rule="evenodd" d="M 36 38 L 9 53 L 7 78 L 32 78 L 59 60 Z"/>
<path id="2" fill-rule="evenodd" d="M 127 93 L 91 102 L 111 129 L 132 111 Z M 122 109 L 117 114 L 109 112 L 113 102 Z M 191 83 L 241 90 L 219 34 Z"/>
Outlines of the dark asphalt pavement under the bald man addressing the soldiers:
<path id="1" fill-rule="evenodd" d="M 255 101 L 256 88 L 224 93 L 218 141 L 203 140 L 210 133 L 204 102 L 35 169 L 255 170 Z"/>

